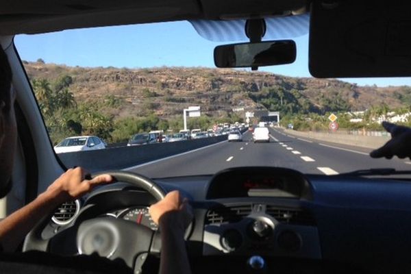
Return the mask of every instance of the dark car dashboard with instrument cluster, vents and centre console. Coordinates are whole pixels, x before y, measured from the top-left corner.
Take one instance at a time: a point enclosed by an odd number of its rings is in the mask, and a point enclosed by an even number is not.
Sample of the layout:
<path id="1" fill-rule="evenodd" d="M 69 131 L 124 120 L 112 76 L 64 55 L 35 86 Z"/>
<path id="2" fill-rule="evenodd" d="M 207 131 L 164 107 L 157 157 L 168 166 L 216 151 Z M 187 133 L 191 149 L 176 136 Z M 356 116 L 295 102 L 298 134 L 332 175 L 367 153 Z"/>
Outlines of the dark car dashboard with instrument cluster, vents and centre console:
<path id="1" fill-rule="evenodd" d="M 266 167 L 154 181 L 190 201 L 194 219 L 186 246 L 193 273 L 387 273 L 410 266 L 406 181 Z M 73 227 L 97 216 L 158 229 L 148 213 L 155 199 L 125 183 L 98 188 L 76 203 L 71 220 L 56 222 L 54 215 L 42 230 L 49 251 L 77 254 Z"/>

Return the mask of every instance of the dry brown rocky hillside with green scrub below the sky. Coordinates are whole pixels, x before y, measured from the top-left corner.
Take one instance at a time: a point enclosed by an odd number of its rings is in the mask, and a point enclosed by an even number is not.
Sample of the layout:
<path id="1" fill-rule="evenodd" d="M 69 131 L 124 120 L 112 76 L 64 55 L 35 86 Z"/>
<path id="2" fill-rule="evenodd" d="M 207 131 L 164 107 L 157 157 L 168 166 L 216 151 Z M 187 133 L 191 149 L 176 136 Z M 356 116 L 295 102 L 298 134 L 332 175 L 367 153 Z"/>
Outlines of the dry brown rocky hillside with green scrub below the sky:
<path id="1" fill-rule="evenodd" d="M 221 117 L 233 108 L 317 112 L 366 110 L 386 103 L 397 108 L 410 103 L 410 87 L 357 86 L 335 79 L 297 78 L 231 69 L 162 67 L 116 69 L 71 67 L 24 62 L 30 79 L 53 83 L 61 75 L 73 82 L 76 101 L 95 103 L 108 95 L 121 99 L 104 110 L 114 119 L 142 116 L 151 110 L 160 117 L 181 114 L 201 105 L 208 116 Z"/>

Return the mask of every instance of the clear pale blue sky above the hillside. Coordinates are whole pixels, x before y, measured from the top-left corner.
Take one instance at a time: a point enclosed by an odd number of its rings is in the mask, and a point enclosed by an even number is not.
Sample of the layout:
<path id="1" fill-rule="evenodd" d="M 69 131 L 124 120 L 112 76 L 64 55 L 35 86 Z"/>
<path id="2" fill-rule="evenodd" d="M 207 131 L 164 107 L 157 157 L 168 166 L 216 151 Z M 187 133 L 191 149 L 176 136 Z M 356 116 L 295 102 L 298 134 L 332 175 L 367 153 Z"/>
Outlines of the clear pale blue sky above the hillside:
<path id="1" fill-rule="evenodd" d="M 297 60 L 284 66 L 261 67 L 259 71 L 310 77 L 308 35 L 294 39 Z M 66 64 L 68 66 L 205 66 L 214 68 L 213 50 L 229 42 L 201 38 L 186 21 L 121 27 L 75 29 L 51 34 L 21 35 L 14 39 L 22 60 Z M 236 41 L 233 41 L 236 42 Z M 342 79 L 361 86 L 411 85 L 411 78 Z"/>

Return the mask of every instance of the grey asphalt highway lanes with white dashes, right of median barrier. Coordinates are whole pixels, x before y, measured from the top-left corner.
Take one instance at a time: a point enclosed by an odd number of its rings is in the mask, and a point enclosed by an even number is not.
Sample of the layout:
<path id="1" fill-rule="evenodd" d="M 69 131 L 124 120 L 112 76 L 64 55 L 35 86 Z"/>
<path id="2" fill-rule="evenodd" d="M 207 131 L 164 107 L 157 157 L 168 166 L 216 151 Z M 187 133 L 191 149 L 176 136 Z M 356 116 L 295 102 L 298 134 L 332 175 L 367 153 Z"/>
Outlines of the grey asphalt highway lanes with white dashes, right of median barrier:
<path id="1" fill-rule="evenodd" d="M 336 175 L 358 169 L 408 170 L 410 159 L 373 159 L 370 149 L 297 138 L 281 129 L 270 129 L 271 142 L 253 143 L 246 132 L 242 142 L 219 142 L 169 158 L 128 169 L 152 178 L 208 175 L 234 166 L 279 166 L 302 173 Z"/>

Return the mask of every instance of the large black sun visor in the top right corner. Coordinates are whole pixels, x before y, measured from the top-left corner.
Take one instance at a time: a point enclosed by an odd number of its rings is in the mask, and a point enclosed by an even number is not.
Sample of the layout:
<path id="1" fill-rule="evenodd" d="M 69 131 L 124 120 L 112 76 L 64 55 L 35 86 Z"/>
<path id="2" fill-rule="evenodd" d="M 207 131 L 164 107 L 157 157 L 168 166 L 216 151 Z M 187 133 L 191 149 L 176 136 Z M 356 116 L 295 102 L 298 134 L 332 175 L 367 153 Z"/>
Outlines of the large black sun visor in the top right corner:
<path id="1" fill-rule="evenodd" d="M 411 2 L 314 1 L 309 69 L 321 78 L 411 76 Z"/>

